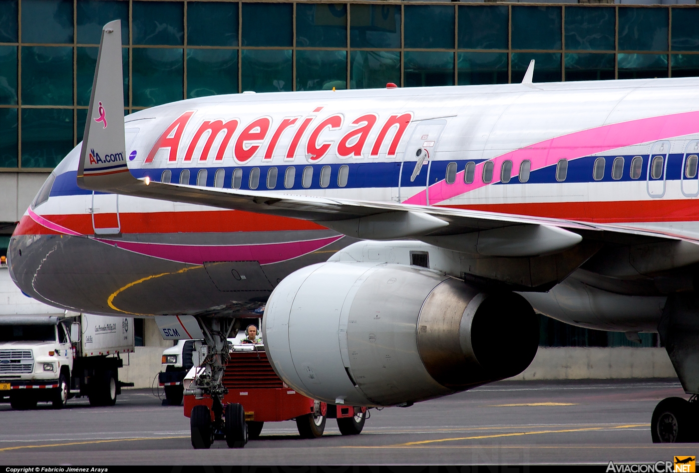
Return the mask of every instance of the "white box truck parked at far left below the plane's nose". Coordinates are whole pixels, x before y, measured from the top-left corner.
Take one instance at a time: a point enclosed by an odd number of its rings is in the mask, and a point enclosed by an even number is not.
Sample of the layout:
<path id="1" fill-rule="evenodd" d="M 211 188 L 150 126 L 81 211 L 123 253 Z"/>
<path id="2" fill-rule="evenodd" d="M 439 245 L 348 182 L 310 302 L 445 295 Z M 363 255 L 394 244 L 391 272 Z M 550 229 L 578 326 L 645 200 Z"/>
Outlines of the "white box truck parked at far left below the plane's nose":
<path id="1" fill-rule="evenodd" d="M 13 409 L 87 396 L 114 405 L 122 354 L 134 351 L 131 317 L 67 312 L 25 296 L 0 265 L 0 400 Z"/>

